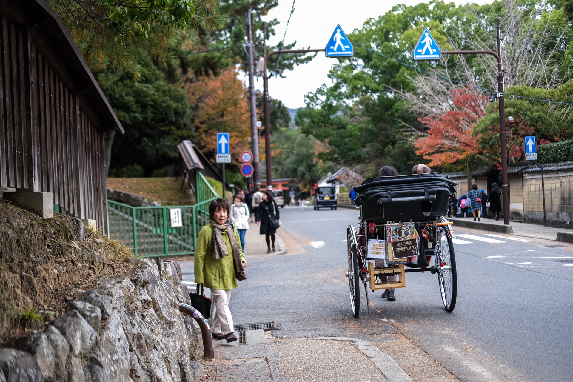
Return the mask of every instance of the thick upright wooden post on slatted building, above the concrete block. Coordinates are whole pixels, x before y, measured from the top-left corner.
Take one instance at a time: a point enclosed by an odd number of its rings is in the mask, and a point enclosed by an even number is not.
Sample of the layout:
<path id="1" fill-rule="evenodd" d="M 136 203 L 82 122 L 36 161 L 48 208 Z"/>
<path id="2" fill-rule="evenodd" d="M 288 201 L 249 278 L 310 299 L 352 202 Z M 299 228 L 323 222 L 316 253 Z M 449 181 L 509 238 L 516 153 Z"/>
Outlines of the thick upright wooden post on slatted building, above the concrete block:
<path id="1" fill-rule="evenodd" d="M 28 145 L 26 145 L 26 149 L 28 151 L 28 190 L 33 192 L 44 191 L 44 188 L 41 187 L 40 178 L 38 178 L 38 161 L 40 160 L 40 153 L 38 151 L 38 125 L 40 120 L 40 115 L 38 112 L 38 75 L 37 75 L 37 67 L 36 67 L 36 46 L 33 44 L 32 40 L 30 39 L 29 29 L 26 31 L 26 41 L 27 41 L 27 50 L 28 50 L 28 65 L 26 65 L 26 69 L 28 69 L 28 76 L 25 78 L 26 83 L 26 120 L 28 123 L 26 124 L 26 140 L 28 141 Z"/>

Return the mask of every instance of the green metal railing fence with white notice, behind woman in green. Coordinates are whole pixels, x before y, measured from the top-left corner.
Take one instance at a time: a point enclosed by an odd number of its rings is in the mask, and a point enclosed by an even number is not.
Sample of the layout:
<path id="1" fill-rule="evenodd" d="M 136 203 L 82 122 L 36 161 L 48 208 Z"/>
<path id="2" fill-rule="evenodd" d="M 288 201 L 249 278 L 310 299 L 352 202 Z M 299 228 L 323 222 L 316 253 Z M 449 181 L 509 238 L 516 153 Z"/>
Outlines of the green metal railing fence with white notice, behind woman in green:
<path id="1" fill-rule="evenodd" d="M 197 174 L 197 204 L 132 207 L 108 200 L 109 236 L 142 257 L 195 253 L 198 231 L 209 222 L 209 204 L 219 198 L 205 177 Z M 170 227 L 170 209 L 181 211 L 182 227 Z"/>

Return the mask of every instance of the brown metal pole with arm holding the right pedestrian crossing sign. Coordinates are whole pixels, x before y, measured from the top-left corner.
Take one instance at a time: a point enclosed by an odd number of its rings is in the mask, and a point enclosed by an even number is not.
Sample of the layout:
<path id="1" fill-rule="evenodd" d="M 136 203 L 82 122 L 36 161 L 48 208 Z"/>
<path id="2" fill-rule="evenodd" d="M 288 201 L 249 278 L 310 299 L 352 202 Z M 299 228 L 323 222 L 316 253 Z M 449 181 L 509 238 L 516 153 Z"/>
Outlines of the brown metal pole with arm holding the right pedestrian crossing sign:
<path id="1" fill-rule="evenodd" d="M 509 224 L 509 178 L 507 175 L 507 144 L 505 140 L 505 105 L 503 70 L 501 69 L 500 22 L 497 22 L 497 53 L 491 50 L 446 50 L 442 54 L 491 54 L 497 59 L 497 91 L 499 92 L 500 108 L 500 140 L 501 140 L 501 183 L 503 190 L 504 223 Z"/>

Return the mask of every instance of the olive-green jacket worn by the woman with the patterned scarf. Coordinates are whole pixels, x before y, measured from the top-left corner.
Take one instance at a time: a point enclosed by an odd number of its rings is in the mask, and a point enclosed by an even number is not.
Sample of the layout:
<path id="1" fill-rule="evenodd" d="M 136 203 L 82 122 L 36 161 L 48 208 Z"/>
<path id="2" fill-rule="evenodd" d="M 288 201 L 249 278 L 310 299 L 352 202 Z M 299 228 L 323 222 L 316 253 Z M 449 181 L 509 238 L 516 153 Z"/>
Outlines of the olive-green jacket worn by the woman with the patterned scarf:
<path id="1" fill-rule="evenodd" d="M 241 260 L 245 262 L 245 255 L 241 247 L 241 239 L 237 228 L 233 225 L 233 232 L 237 239 L 237 245 L 241 252 Z M 237 279 L 235 278 L 235 267 L 233 265 L 233 249 L 227 236 L 227 231 L 221 233 L 223 241 L 227 245 L 229 255 L 217 260 L 211 256 L 211 235 L 213 226 L 208 223 L 203 226 L 199 235 L 197 235 L 197 245 L 195 246 L 195 282 L 203 284 L 205 288 L 229 290 L 237 288 Z"/>

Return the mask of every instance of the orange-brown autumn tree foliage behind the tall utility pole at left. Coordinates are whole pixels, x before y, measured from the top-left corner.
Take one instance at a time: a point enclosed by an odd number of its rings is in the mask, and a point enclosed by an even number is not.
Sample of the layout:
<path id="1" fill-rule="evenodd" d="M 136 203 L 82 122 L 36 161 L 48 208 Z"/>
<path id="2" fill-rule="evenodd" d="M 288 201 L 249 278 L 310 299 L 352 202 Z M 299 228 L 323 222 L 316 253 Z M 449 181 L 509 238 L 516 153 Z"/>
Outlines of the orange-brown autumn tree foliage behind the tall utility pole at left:
<path id="1" fill-rule="evenodd" d="M 248 93 L 234 68 L 217 77 L 201 77 L 185 84 L 193 113 L 195 141 L 203 152 L 217 152 L 217 132 L 229 132 L 233 153 L 250 149 Z M 238 163 L 238 157 L 233 157 Z"/>

